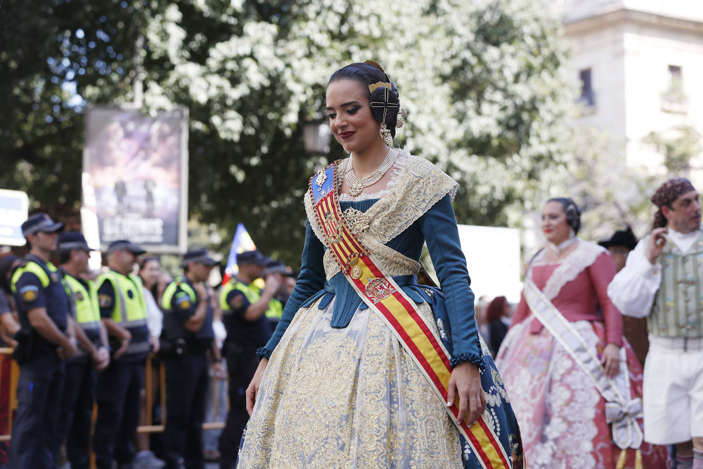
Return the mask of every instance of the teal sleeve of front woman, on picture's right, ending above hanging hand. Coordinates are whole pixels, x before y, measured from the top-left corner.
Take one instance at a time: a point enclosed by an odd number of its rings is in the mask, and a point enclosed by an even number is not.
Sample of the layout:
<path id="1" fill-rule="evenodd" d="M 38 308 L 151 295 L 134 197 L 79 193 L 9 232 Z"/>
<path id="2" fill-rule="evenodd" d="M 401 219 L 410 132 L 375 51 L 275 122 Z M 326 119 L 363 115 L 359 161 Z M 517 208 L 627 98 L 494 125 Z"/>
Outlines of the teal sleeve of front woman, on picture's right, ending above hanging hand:
<path id="1" fill-rule="evenodd" d="M 444 293 L 453 345 L 451 364 L 456 366 L 470 361 L 484 368 L 474 293 L 469 286 L 471 280 L 466 269 L 466 257 L 459 243 L 459 231 L 449 195 L 427 210 L 418 222 Z"/>

